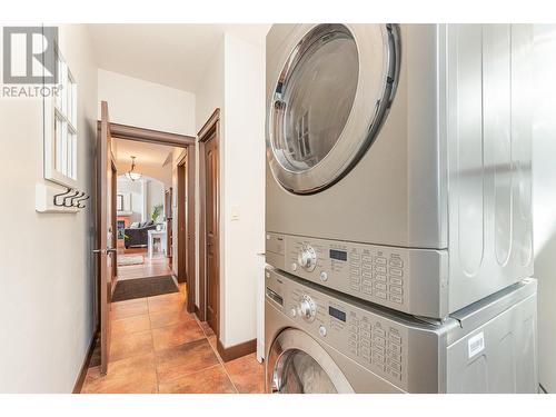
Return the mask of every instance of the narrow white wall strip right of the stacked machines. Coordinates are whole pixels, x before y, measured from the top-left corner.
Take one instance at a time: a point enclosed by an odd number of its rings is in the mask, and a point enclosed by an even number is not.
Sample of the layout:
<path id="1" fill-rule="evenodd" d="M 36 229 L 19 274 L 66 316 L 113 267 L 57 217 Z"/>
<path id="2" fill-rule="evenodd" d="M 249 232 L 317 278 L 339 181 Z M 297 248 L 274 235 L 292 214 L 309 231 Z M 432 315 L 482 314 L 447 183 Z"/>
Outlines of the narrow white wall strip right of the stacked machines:
<path id="1" fill-rule="evenodd" d="M 533 198 L 539 381 L 556 393 L 556 26 L 535 26 Z"/>

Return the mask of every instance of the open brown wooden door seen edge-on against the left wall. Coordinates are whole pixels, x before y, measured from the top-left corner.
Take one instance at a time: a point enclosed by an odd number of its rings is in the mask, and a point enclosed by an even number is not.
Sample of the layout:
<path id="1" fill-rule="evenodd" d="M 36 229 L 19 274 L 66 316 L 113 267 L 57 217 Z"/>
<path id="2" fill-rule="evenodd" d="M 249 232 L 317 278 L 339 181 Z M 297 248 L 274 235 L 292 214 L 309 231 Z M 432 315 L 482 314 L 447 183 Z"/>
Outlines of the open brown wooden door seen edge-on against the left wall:
<path id="1" fill-rule="evenodd" d="M 110 299 L 116 270 L 116 168 L 111 151 L 108 105 L 101 102 L 100 133 L 97 146 L 97 215 L 98 259 L 100 287 L 100 370 L 106 374 L 110 353 Z"/>

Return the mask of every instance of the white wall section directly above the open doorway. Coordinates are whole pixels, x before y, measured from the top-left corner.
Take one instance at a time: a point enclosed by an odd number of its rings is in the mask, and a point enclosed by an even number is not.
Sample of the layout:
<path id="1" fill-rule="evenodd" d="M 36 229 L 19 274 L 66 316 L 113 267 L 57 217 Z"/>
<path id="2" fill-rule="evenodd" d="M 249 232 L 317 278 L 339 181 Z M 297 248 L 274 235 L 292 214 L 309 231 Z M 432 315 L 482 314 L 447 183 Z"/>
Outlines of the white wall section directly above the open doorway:
<path id="1" fill-rule="evenodd" d="M 102 69 L 98 85 L 99 101 L 108 102 L 110 121 L 195 136 L 193 93 Z"/>

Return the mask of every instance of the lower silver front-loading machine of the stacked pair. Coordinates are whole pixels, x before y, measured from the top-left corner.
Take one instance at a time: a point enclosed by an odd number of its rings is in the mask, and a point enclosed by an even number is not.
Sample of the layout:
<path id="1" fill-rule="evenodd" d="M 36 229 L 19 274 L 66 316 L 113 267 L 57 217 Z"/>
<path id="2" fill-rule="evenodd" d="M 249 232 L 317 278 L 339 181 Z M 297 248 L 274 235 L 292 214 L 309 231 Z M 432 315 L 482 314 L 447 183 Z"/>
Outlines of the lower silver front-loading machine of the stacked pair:
<path id="1" fill-rule="evenodd" d="M 444 324 L 266 271 L 268 393 L 537 393 L 536 280 Z"/>

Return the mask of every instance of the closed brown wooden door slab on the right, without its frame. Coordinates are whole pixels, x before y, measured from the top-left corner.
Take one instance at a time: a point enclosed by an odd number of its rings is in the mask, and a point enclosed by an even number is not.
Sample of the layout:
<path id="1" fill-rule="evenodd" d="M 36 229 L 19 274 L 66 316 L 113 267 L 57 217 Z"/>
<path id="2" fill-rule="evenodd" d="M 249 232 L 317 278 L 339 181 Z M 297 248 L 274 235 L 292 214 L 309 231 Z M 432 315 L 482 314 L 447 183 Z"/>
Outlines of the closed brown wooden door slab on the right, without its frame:
<path id="1" fill-rule="evenodd" d="M 216 135 L 205 142 L 205 242 L 207 276 L 207 321 L 219 334 L 219 239 L 218 239 L 218 143 Z"/>

